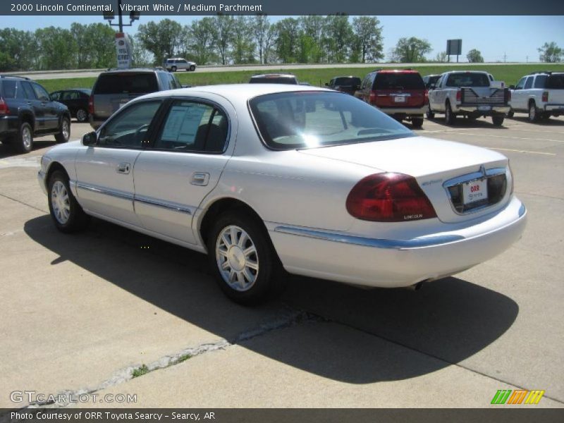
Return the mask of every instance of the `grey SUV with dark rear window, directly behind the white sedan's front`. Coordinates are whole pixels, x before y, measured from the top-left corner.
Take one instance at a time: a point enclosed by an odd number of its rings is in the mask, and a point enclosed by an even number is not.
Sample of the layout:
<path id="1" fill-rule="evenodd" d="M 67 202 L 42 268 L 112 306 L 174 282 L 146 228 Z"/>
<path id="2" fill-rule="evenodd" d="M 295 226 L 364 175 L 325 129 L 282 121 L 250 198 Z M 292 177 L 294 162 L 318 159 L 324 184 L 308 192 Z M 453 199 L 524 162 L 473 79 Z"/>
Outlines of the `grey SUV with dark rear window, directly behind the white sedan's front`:
<path id="1" fill-rule="evenodd" d="M 100 73 L 88 100 L 90 126 L 98 129 L 114 112 L 149 92 L 182 88 L 176 76 L 163 68 L 109 69 Z"/>

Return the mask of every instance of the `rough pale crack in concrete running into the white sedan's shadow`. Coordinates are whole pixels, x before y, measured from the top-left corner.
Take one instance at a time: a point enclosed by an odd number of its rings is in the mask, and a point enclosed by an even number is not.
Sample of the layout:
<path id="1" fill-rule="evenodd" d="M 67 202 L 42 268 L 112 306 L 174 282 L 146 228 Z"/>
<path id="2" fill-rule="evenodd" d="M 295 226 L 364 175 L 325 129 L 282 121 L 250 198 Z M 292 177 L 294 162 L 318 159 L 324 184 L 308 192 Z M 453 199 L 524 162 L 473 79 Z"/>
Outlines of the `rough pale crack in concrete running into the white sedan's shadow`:
<path id="1" fill-rule="evenodd" d="M 327 320 L 315 314 L 311 314 L 302 310 L 293 309 L 288 306 L 284 306 L 283 312 L 281 312 L 281 314 L 279 314 L 278 316 L 274 317 L 274 319 L 269 319 L 268 321 L 264 321 L 263 323 L 259 324 L 257 327 L 240 332 L 232 340 L 221 338 L 214 343 L 202 343 L 195 347 L 184 348 L 183 350 L 180 350 L 171 355 L 165 355 L 149 364 L 146 365 L 142 364 L 142 366 L 146 366 L 145 373 L 142 374 L 142 376 L 144 376 L 145 374 L 155 372 L 160 369 L 166 369 L 167 367 L 175 366 L 176 364 L 180 364 L 181 362 L 184 362 L 188 358 L 191 359 L 192 357 L 197 357 L 198 355 L 211 353 L 212 351 L 216 351 L 216 350 L 225 350 L 228 347 L 231 347 L 233 345 L 238 345 L 245 341 L 249 341 L 252 338 L 257 338 L 258 336 L 264 336 L 266 333 L 269 333 L 271 331 L 286 329 L 290 326 L 294 326 L 296 324 L 303 324 L 308 321 L 327 321 Z M 126 381 L 133 379 L 135 377 L 133 372 L 140 368 L 141 365 L 125 367 L 123 369 L 118 370 L 109 379 L 106 379 L 105 381 L 95 386 L 94 388 L 80 388 L 75 391 L 72 390 L 59 391 L 59 393 L 57 393 L 56 395 L 51 396 L 53 399 L 46 401 L 35 401 L 33 403 L 30 403 L 30 405 L 27 405 L 27 407 L 23 407 L 22 409 L 30 409 L 37 407 L 45 407 L 45 408 L 68 407 L 69 405 L 75 403 L 68 401 L 68 399 L 79 398 L 83 394 L 96 393 L 97 391 L 102 391 L 106 388 L 110 388 L 111 386 L 123 384 Z"/>

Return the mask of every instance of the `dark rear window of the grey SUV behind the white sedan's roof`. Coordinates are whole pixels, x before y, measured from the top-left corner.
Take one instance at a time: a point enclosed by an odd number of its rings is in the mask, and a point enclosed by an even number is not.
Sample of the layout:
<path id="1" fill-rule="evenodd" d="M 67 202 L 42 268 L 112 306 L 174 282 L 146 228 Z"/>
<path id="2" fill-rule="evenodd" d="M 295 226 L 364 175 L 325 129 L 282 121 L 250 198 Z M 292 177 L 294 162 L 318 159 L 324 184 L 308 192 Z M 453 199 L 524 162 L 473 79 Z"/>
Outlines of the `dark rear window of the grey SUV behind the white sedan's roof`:
<path id="1" fill-rule="evenodd" d="M 98 77 L 94 94 L 145 94 L 159 91 L 154 73 L 105 73 Z"/>

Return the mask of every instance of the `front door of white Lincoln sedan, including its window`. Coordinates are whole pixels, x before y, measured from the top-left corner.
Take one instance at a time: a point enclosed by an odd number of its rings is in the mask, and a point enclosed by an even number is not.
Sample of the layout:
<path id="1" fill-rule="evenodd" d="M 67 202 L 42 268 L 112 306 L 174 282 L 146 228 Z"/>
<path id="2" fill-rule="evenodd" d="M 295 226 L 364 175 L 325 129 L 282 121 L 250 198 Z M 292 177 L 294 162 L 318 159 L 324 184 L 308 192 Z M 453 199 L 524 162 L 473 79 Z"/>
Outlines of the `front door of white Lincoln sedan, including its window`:
<path id="1" fill-rule="evenodd" d="M 133 166 L 161 100 L 125 106 L 98 132 L 97 145 L 76 157 L 76 190 L 82 207 L 112 220 L 140 226 L 133 209 Z"/>

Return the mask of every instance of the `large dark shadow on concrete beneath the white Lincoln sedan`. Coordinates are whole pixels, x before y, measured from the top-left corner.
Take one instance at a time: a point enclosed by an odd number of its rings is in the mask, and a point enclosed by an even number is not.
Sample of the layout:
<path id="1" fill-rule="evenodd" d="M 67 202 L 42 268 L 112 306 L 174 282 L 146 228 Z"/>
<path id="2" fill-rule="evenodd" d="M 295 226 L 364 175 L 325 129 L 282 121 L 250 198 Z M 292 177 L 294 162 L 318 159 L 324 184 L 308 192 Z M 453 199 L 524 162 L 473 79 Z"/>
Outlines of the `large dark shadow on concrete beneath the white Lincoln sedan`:
<path id="1" fill-rule="evenodd" d="M 24 230 L 59 256 L 52 266 L 70 261 L 254 353 L 350 384 L 408 379 L 461 362 L 500 338 L 519 312 L 507 296 L 453 277 L 414 292 L 287 276 L 280 300 L 249 309 L 222 295 L 204 255 L 183 247 L 98 219 L 75 235 L 56 231 L 47 215 Z M 239 322 L 251 315 L 260 328 L 273 308 L 305 313 L 285 329 L 241 341 Z"/>

